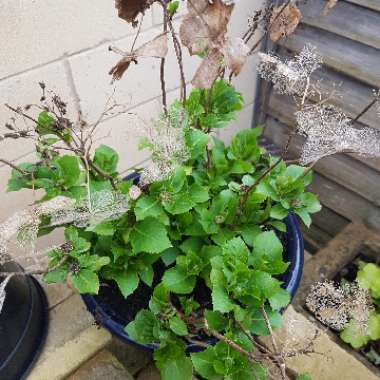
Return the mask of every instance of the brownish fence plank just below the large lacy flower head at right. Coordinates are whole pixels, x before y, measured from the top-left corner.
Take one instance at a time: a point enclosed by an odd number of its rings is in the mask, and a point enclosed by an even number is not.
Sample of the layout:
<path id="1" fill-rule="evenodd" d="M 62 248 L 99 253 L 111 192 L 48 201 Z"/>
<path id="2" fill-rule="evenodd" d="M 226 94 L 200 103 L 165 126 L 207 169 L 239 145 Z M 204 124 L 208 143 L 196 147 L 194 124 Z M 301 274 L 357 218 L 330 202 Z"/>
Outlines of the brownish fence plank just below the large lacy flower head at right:
<path id="1" fill-rule="evenodd" d="M 290 130 L 276 122 L 268 119 L 266 123 L 265 135 L 272 139 L 278 146 L 284 146 Z M 295 136 L 290 145 L 290 158 L 298 158 L 303 145 L 304 138 Z M 318 161 L 314 170 L 323 174 L 332 181 L 350 189 L 376 206 L 380 206 L 380 174 L 364 166 L 361 162 L 344 155 L 324 157 Z"/>

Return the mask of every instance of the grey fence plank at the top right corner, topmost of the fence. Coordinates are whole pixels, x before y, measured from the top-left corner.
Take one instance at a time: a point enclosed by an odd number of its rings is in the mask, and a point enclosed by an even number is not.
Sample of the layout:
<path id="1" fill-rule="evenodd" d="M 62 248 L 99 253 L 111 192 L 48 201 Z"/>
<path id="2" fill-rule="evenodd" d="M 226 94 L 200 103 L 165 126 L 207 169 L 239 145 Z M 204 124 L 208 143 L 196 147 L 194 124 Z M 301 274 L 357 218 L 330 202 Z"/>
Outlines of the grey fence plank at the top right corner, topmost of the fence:
<path id="1" fill-rule="evenodd" d="M 325 5 L 325 0 L 300 4 L 302 22 L 380 49 L 380 13 L 338 1 L 326 16 L 323 14 Z"/>

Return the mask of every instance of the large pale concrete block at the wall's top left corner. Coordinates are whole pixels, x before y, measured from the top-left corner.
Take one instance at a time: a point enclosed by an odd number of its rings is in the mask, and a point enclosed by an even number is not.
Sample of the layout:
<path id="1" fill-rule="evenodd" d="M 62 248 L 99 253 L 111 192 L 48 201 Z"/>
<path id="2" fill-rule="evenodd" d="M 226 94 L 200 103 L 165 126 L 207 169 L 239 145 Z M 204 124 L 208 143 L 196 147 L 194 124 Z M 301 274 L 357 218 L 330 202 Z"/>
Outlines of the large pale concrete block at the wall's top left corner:
<path id="1" fill-rule="evenodd" d="M 0 78 L 135 32 L 109 0 L 4 0 L 0 15 Z"/>

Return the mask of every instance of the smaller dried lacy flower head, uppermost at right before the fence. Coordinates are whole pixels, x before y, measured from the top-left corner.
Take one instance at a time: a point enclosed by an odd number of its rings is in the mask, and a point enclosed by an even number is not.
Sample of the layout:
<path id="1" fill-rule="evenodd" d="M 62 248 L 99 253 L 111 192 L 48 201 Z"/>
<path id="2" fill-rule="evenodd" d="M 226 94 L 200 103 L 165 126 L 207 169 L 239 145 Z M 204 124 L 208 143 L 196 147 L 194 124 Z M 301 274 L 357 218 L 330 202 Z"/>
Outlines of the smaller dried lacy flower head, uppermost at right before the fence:
<path id="1" fill-rule="evenodd" d="M 311 74 L 322 63 L 322 58 L 310 45 L 306 45 L 294 60 L 282 62 L 265 53 L 259 53 L 259 57 L 259 74 L 272 82 L 276 91 L 287 95 L 303 95 Z"/>

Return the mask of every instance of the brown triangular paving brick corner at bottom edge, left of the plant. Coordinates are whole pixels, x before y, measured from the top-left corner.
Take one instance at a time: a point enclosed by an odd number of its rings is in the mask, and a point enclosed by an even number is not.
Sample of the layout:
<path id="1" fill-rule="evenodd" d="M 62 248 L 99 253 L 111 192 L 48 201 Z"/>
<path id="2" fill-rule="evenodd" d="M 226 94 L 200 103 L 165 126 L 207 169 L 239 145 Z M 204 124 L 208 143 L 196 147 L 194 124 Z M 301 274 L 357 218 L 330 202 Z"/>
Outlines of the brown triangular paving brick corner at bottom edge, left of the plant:
<path id="1" fill-rule="evenodd" d="M 109 351 L 103 350 L 67 380 L 133 380 L 133 376 Z"/>

